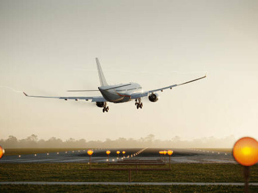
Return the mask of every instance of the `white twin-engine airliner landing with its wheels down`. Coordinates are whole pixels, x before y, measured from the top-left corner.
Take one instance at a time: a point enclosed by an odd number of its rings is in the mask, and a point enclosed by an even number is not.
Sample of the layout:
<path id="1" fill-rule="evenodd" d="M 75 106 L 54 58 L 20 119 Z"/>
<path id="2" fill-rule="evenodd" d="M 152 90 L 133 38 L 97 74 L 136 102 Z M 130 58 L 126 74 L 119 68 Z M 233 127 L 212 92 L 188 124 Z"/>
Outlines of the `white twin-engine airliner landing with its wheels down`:
<path id="1" fill-rule="evenodd" d="M 151 102 L 157 102 L 159 99 L 158 91 L 163 92 L 165 89 L 172 89 L 175 86 L 184 85 L 193 81 L 200 80 L 202 78 L 205 78 L 207 76 L 207 73 L 205 76 L 184 82 L 181 84 L 173 84 L 170 86 L 162 87 L 159 89 L 149 90 L 149 91 L 143 91 L 142 87 L 138 83 L 125 83 L 125 84 L 116 84 L 116 85 L 109 85 L 104 77 L 102 68 L 100 66 L 99 59 L 96 58 L 96 64 L 98 68 L 98 74 L 99 74 L 99 80 L 100 85 L 98 87 L 98 90 L 69 90 L 68 92 L 84 92 L 84 91 L 100 91 L 102 96 L 33 96 L 28 95 L 25 92 L 23 94 L 28 97 L 38 97 L 38 98 L 55 98 L 55 99 L 73 99 L 73 100 L 91 100 L 91 102 L 96 102 L 96 106 L 103 108 L 102 112 L 108 112 L 109 107 L 107 106 L 107 102 L 112 103 L 122 103 L 122 102 L 128 102 L 131 100 L 135 100 L 135 106 L 137 109 L 142 108 L 143 104 L 141 102 L 141 98 L 148 96 L 149 100 Z"/>

